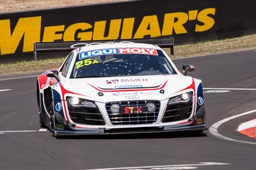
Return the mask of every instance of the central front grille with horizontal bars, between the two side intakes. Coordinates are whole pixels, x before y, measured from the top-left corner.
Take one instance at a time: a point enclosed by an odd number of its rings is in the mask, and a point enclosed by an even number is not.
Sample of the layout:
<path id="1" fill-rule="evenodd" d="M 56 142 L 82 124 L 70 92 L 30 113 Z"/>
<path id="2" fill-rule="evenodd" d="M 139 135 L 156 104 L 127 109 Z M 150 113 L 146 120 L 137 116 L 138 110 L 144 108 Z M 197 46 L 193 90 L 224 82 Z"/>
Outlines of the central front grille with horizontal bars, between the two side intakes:
<path id="1" fill-rule="evenodd" d="M 156 111 L 154 112 L 146 112 L 143 111 L 142 113 L 129 113 L 129 114 L 120 114 L 120 113 L 111 113 L 110 106 L 114 103 L 107 103 L 106 110 L 108 111 L 108 116 L 113 125 L 138 125 L 138 124 L 153 124 L 156 122 L 160 102 L 159 101 L 122 101 L 118 102 L 117 104 L 120 107 L 145 107 L 148 102 L 152 102 L 156 104 Z"/>

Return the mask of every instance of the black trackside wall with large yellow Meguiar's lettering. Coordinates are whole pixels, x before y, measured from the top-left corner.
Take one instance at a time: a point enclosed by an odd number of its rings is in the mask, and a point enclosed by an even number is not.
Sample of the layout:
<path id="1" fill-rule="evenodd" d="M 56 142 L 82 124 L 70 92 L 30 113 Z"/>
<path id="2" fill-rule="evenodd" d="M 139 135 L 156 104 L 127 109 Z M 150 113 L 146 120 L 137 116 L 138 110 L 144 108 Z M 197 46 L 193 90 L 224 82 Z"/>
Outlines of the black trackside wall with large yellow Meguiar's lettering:
<path id="1" fill-rule="evenodd" d="M 175 44 L 256 32 L 256 1 L 141 0 L 0 13 L 0 60 L 33 43 L 173 36 Z"/>

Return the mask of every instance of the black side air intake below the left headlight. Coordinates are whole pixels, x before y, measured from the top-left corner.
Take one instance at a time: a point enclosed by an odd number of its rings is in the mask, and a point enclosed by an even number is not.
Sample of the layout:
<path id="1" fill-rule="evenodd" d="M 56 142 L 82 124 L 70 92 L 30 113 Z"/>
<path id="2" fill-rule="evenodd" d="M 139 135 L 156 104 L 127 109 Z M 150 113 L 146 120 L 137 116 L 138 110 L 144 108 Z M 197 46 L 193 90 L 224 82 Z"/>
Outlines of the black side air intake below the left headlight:
<path id="1" fill-rule="evenodd" d="M 71 120 L 77 124 L 105 125 L 104 119 L 98 108 L 68 107 Z"/>

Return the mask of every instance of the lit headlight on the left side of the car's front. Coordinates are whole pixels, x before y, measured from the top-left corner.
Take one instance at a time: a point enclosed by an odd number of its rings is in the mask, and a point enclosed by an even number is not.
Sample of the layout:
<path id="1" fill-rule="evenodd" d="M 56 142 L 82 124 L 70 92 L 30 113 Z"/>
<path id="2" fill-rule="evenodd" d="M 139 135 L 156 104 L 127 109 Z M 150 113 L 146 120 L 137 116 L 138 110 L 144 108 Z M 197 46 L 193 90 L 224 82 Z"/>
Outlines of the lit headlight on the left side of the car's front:
<path id="1" fill-rule="evenodd" d="M 86 99 L 80 99 L 78 97 L 67 97 L 67 101 L 74 107 L 97 108 L 92 101 L 87 101 Z"/>

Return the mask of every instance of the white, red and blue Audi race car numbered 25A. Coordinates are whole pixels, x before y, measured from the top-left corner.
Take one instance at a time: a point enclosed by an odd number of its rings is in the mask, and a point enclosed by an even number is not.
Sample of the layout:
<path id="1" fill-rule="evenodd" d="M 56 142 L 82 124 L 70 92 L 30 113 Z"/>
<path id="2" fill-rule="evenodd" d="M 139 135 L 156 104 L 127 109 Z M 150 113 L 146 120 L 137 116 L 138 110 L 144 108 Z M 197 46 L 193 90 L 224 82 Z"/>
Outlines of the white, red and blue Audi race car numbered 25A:
<path id="1" fill-rule="evenodd" d="M 173 38 L 34 43 L 38 54 L 67 53 L 36 82 L 39 120 L 54 136 L 205 129 L 202 81 L 179 71 L 163 50 Z"/>

